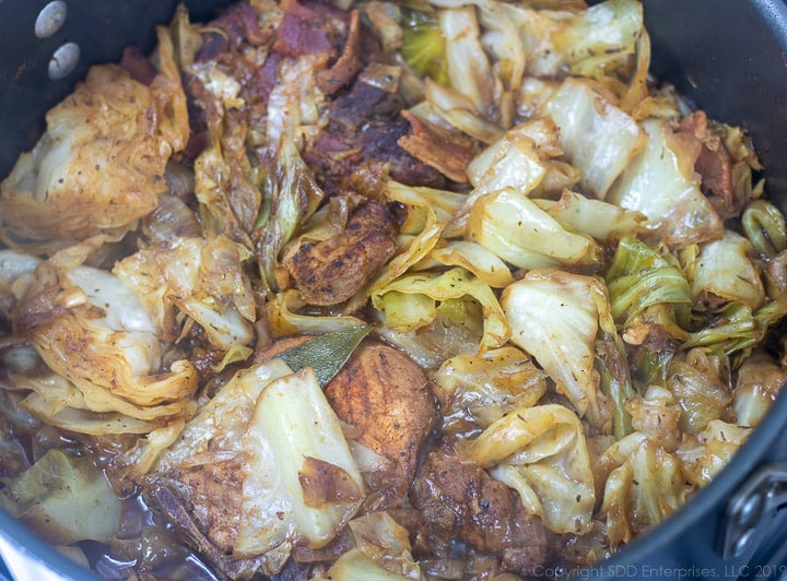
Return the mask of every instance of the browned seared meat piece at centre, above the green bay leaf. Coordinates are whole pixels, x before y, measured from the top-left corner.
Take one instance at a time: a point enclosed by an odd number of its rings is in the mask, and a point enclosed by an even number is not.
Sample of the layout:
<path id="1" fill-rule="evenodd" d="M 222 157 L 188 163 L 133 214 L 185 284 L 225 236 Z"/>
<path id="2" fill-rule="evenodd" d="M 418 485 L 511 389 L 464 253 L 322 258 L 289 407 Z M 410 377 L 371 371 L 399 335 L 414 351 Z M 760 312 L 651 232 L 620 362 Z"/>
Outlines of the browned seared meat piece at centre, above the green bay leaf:
<path id="1" fill-rule="evenodd" d="M 316 245 L 304 245 L 286 261 L 290 274 L 309 305 L 337 305 L 352 297 L 396 251 L 393 216 L 367 202 L 346 229 Z"/>

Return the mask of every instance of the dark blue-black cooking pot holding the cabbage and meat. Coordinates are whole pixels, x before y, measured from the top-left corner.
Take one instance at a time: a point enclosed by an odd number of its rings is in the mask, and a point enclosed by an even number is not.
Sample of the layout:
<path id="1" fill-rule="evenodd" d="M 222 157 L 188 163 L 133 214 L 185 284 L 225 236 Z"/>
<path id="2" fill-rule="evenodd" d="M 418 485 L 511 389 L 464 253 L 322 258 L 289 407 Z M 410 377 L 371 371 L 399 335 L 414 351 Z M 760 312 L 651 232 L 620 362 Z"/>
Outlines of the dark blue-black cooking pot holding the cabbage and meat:
<path id="1" fill-rule="evenodd" d="M 46 0 L 0 0 L 0 176 L 44 129 L 44 114 L 96 62 L 153 48 L 178 0 L 66 0 L 66 21 L 38 37 Z M 208 20 L 228 0 L 186 2 Z M 770 197 L 787 210 L 787 7 L 780 0 L 644 0 L 653 71 L 709 117 L 750 131 Z M 70 72 L 52 54 L 75 43 Z M 729 465 L 671 518 L 580 579 L 787 579 L 787 390 Z M 782 509 L 782 507 L 785 507 Z M 0 511 L 0 536 L 67 579 L 90 574 Z M 543 579 L 567 577 L 543 570 Z M 0 566 L 0 580 L 10 578 Z"/>

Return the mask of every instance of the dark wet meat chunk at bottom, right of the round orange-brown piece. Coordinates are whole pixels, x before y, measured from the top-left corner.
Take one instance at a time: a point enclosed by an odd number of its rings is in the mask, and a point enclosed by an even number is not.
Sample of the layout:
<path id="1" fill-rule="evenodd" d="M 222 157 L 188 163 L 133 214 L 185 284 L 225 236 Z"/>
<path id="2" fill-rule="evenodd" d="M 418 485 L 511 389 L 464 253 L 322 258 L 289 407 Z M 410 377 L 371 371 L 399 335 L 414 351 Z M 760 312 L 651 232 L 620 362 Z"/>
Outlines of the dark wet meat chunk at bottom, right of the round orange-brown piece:
<path id="1" fill-rule="evenodd" d="M 480 466 L 460 462 L 450 439 L 426 456 L 410 500 L 435 536 L 446 542 L 460 538 L 478 550 L 501 555 L 507 571 L 532 574 L 545 560 L 541 520 L 525 511 L 517 493 Z"/>

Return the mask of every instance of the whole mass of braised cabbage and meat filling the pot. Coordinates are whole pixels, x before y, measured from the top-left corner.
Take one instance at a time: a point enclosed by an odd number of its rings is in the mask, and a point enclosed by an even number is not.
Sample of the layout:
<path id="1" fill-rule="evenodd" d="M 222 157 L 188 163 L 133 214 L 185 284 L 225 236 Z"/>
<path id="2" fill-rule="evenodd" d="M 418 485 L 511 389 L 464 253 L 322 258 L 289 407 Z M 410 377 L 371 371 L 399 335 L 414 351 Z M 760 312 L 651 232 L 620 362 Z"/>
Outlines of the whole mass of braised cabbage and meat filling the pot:
<path id="1" fill-rule="evenodd" d="M 590 4 L 179 7 L 91 69 L 0 183 L 0 505 L 140 578 L 572 576 L 668 518 L 783 389 L 787 230 Z"/>

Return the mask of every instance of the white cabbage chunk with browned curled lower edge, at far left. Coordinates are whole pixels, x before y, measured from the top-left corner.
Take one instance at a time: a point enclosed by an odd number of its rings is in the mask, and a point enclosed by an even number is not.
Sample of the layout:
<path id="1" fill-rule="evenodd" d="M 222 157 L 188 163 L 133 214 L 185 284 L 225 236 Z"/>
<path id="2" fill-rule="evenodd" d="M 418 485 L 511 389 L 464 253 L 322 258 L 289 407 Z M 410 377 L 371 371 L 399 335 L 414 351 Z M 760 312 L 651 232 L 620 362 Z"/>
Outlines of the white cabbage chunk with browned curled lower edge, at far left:
<path id="1" fill-rule="evenodd" d="M 104 270 L 47 266 L 23 299 L 20 322 L 44 361 L 82 392 L 87 408 L 140 419 L 183 410 L 197 372 L 186 359 L 162 369 L 156 328 L 134 292 Z"/>

